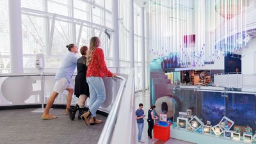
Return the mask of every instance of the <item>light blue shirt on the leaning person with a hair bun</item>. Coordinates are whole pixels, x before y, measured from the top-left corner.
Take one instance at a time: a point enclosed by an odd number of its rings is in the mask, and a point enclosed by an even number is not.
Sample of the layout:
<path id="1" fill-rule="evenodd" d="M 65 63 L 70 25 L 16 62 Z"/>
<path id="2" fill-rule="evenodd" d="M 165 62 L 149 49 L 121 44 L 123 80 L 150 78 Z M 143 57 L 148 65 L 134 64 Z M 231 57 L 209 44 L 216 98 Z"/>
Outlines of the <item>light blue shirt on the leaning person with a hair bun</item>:
<path id="1" fill-rule="evenodd" d="M 68 52 L 67 56 L 61 61 L 60 70 L 55 75 L 56 81 L 65 77 L 68 80 L 68 83 L 71 82 L 71 78 L 74 74 L 76 68 L 78 57 L 73 52 Z"/>

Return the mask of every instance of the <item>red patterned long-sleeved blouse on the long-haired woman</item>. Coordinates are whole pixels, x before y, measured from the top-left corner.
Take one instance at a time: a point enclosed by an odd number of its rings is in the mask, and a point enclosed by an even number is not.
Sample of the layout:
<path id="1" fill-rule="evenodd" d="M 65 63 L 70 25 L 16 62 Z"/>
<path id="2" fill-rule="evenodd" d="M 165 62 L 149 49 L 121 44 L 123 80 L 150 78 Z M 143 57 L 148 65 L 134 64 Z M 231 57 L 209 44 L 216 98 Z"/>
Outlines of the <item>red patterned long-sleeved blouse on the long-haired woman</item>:
<path id="1" fill-rule="evenodd" d="M 86 77 L 111 77 L 112 72 L 110 72 L 106 66 L 104 60 L 104 52 L 100 48 L 96 48 L 92 52 L 91 63 L 87 67 Z"/>

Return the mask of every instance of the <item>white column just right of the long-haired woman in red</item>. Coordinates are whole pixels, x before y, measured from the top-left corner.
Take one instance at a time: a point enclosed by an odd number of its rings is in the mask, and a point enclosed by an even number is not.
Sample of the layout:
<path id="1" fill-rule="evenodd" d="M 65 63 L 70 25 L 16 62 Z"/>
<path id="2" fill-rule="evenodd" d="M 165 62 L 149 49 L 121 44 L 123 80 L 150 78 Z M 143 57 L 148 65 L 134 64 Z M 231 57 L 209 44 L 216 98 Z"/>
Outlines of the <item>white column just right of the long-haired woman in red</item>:
<path id="1" fill-rule="evenodd" d="M 118 0 L 112 0 L 112 22 L 113 22 L 113 67 L 119 72 L 119 25 L 118 25 Z"/>

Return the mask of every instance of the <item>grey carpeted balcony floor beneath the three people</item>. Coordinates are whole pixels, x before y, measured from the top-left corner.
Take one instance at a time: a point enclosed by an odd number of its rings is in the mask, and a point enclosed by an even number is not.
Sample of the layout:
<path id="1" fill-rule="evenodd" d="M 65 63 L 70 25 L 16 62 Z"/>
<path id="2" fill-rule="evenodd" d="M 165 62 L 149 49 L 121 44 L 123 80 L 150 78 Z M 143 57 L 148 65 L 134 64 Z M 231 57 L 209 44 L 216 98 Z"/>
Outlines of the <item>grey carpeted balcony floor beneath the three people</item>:
<path id="1" fill-rule="evenodd" d="M 71 121 L 63 115 L 65 109 L 52 109 L 54 120 L 42 120 L 42 113 L 31 113 L 35 109 L 13 109 L 0 111 L 1 144 L 95 144 L 99 140 L 103 124 L 86 126 L 82 120 Z M 97 115 L 106 121 L 105 116 Z"/>

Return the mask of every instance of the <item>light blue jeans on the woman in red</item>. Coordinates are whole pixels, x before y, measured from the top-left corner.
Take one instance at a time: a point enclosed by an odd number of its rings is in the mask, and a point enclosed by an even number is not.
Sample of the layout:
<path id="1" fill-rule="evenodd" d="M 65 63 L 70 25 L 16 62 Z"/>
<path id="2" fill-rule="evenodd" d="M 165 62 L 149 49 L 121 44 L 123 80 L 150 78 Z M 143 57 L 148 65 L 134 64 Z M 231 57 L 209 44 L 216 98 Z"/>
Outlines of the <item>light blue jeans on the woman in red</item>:
<path id="1" fill-rule="evenodd" d="M 92 116 L 96 116 L 96 111 L 106 99 L 106 90 L 102 77 L 86 77 L 90 91 L 89 109 Z"/>

